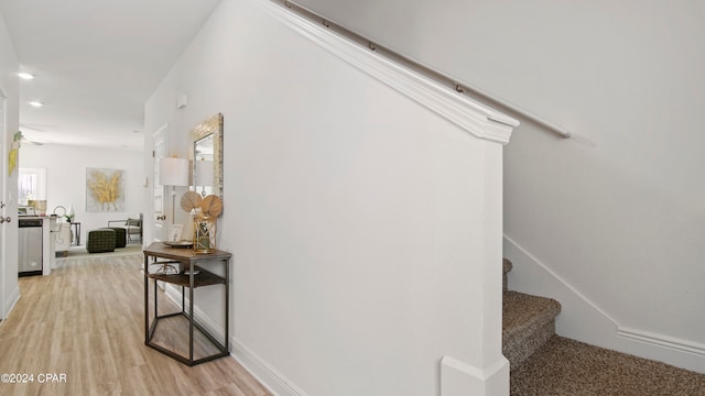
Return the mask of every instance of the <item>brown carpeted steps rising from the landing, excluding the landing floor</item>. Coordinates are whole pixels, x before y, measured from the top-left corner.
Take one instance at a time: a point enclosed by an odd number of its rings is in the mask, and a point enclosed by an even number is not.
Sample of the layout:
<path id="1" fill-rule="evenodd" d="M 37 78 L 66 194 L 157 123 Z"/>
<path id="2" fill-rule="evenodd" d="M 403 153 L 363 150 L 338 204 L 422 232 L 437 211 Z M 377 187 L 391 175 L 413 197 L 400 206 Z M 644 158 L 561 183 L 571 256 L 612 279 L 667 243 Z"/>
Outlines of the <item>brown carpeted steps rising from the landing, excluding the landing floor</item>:
<path id="1" fill-rule="evenodd" d="M 507 274 L 511 267 L 509 260 L 502 260 L 502 354 L 513 370 L 555 334 L 555 317 L 561 314 L 561 304 L 552 298 L 508 290 Z"/>

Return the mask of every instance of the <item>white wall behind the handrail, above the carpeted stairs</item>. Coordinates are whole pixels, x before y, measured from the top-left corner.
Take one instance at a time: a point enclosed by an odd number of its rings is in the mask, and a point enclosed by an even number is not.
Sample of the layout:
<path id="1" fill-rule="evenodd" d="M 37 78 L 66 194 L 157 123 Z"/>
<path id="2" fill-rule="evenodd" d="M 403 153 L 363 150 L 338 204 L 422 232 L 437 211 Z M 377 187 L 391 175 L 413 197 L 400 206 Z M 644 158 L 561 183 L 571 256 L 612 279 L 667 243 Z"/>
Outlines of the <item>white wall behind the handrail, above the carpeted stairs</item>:
<path id="1" fill-rule="evenodd" d="M 299 3 L 572 130 L 565 141 L 523 122 L 507 146 L 508 253 L 536 260 L 510 258 L 546 268 L 546 285 L 557 275 L 647 344 L 694 348 L 690 367 L 705 371 L 705 3 Z M 510 285 L 533 288 L 519 274 Z M 618 341 L 579 315 L 558 332 Z"/>

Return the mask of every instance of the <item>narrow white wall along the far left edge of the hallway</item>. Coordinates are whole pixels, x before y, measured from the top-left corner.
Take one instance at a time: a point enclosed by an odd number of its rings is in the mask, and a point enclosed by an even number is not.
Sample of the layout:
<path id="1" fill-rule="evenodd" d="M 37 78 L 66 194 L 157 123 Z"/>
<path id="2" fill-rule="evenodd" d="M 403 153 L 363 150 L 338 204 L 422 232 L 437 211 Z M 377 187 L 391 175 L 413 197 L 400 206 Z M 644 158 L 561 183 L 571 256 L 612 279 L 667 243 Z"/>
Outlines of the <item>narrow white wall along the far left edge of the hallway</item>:
<path id="1" fill-rule="evenodd" d="M 0 190 L 3 190 L 2 201 L 6 202 L 3 215 L 10 217 L 10 223 L 1 226 L 4 229 L 4 238 L 2 239 L 3 246 L 2 255 L 4 260 L 0 260 L 0 318 L 3 319 L 14 306 L 14 302 L 20 298 L 20 287 L 18 285 L 18 250 L 7 249 L 6 246 L 18 245 L 18 227 L 17 227 L 17 193 L 8 188 L 8 186 L 17 186 L 18 172 L 17 169 L 8 176 L 7 164 L 9 147 L 12 143 L 14 132 L 19 130 L 20 124 L 20 87 L 18 84 L 17 73 L 20 68 L 14 47 L 2 15 L 0 15 L 0 88 L 8 97 L 6 100 L 6 118 L 4 127 L 7 128 L 6 136 L 0 140 L 3 144 L 0 146 L 2 155 L 0 161 L 3 165 L 0 165 L 0 172 L 2 172 L 1 179 L 3 186 Z M 2 111 L 2 109 L 0 109 Z M 0 131 L 2 128 L 0 127 Z M 14 194 L 13 194 L 14 193 Z"/>

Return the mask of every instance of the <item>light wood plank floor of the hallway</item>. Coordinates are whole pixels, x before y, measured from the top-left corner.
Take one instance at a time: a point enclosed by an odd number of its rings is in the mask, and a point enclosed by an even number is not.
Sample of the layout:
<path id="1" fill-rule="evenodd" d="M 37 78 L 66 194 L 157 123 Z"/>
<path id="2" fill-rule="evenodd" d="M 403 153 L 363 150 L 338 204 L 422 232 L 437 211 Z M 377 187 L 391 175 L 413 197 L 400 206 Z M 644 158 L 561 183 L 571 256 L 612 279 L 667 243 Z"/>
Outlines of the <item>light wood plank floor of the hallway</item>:
<path id="1" fill-rule="evenodd" d="M 235 359 L 188 367 L 144 345 L 141 262 L 68 258 L 51 276 L 20 278 L 22 297 L 0 322 L 0 374 L 34 377 L 0 382 L 0 395 L 271 395 Z M 66 381 L 41 384 L 42 373 Z"/>

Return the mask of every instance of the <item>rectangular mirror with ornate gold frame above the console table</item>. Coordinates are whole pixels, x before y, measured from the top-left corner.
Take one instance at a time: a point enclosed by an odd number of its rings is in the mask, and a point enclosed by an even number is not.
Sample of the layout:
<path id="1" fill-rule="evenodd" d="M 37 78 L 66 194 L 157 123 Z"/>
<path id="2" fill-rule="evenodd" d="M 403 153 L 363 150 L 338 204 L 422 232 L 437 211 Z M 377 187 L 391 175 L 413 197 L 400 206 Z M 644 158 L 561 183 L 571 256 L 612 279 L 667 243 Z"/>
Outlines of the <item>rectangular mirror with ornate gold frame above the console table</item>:
<path id="1" fill-rule="evenodd" d="M 203 197 L 223 198 L 223 114 L 217 113 L 191 131 L 194 143 L 193 187 Z"/>

